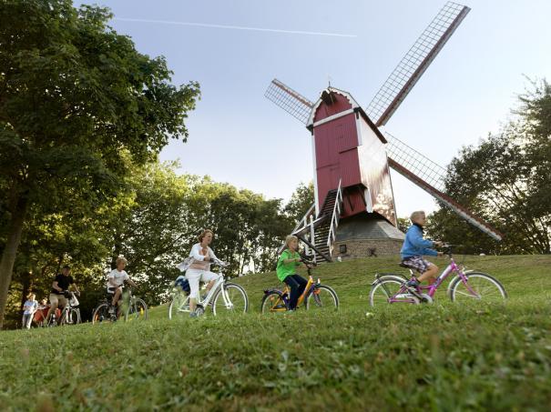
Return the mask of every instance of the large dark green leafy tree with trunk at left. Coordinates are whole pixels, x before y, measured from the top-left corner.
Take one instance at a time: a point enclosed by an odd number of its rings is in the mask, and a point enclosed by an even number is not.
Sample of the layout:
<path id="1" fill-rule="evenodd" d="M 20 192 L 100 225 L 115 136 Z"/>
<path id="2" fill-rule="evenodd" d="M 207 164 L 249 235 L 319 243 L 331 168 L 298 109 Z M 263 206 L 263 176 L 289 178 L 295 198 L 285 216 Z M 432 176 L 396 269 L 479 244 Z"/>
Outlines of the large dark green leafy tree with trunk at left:
<path id="1" fill-rule="evenodd" d="M 86 209 L 117 192 L 123 154 L 144 163 L 188 136 L 186 113 L 199 85 L 169 84 L 150 58 L 107 26 L 105 8 L 70 0 L 0 4 L 0 172 L 5 245 L 0 327 L 17 248 L 35 205 L 70 189 Z M 88 212 L 92 212 L 88 210 Z"/>

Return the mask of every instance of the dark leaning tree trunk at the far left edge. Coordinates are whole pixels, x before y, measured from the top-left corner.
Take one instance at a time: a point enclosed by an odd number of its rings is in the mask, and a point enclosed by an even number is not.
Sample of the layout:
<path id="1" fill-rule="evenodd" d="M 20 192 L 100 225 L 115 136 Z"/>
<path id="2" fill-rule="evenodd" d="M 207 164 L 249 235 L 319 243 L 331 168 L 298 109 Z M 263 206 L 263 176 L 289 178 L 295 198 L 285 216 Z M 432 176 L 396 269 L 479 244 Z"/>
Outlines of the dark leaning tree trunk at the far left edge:
<path id="1" fill-rule="evenodd" d="M 21 242 L 21 233 L 25 223 L 28 200 L 26 196 L 20 196 L 15 203 L 15 208 L 9 223 L 4 252 L 0 259 L 0 329 L 4 327 L 5 305 L 7 303 L 7 291 L 9 290 L 14 271 L 15 255 Z"/>

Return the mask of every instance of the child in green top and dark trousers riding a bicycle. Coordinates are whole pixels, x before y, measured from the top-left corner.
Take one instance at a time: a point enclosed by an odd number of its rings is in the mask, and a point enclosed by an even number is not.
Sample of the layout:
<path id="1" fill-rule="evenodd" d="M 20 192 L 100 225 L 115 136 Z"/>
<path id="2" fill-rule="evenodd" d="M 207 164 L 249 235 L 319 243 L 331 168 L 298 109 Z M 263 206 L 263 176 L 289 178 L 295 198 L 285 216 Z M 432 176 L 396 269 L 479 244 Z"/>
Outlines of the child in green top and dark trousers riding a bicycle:
<path id="1" fill-rule="evenodd" d="M 289 310 L 294 311 L 297 308 L 299 296 L 304 293 L 308 281 L 304 277 L 297 275 L 297 268 L 301 266 L 301 255 L 297 251 L 299 249 L 299 238 L 293 235 L 287 236 L 285 238 L 285 245 L 287 247 L 278 259 L 276 274 L 281 282 L 291 287 Z"/>

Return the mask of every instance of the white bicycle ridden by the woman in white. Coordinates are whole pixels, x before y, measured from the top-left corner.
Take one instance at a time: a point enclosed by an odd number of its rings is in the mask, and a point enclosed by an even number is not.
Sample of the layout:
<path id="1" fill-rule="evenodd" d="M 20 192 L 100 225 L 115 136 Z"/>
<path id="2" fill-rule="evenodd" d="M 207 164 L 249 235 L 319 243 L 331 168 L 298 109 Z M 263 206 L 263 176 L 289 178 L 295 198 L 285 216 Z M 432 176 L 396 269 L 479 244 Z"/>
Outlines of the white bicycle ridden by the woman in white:
<path id="1" fill-rule="evenodd" d="M 219 266 L 219 279 L 209 290 L 204 299 L 198 299 L 195 313 L 201 316 L 205 309 L 212 307 L 212 314 L 215 317 L 235 317 L 249 310 L 249 296 L 240 285 L 227 282 L 222 269 L 228 264 L 221 260 L 214 259 L 212 265 Z M 181 270 L 181 268 L 180 268 Z M 182 270 L 183 272 L 184 270 Z M 174 319 L 189 314 L 189 294 L 180 287 L 172 289 L 172 299 L 168 306 L 168 318 Z"/>

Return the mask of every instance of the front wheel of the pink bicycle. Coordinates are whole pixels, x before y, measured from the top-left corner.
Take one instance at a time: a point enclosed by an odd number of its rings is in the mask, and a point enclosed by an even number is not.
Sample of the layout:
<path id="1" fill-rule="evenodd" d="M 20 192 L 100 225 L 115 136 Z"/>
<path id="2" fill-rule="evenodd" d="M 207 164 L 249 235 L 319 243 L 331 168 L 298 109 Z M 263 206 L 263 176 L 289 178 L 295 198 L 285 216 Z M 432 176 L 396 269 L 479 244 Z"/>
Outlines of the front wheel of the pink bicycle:
<path id="1" fill-rule="evenodd" d="M 467 285 L 456 276 L 450 284 L 450 298 L 453 302 L 485 301 L 503 302 L 507 297 L 505 287 L 494 276 L 481 272 L 465 274 Z"/>

